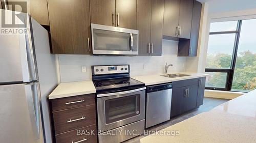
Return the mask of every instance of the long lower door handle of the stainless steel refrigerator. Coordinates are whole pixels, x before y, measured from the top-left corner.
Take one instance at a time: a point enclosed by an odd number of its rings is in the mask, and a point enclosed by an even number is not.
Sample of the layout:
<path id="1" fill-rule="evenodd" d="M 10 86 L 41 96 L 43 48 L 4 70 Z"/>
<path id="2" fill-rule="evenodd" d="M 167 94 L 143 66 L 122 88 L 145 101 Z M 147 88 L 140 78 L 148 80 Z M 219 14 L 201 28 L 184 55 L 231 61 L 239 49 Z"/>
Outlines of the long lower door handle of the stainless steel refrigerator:
<path id="1" fill-rule="evenodd" d="M 40 138 L 40 108 L 38 100 L 38 89 L 36 82 L 25 84 L 25 94 L 28 103 L 29 116 L 31 121 L 34 139 Z"/>

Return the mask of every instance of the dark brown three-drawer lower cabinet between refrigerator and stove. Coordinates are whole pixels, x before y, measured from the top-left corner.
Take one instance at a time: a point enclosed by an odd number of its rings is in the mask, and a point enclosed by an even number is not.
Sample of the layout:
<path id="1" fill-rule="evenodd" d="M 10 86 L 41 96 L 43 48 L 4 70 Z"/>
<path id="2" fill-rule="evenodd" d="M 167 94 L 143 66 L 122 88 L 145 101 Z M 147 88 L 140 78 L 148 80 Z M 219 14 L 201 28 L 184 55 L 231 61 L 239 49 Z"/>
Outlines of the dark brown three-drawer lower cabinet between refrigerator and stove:
<path id="1" fill-rule="evenodd" d="M 95 94 L 50 100 L 56 143 L 97 142 Z"/>

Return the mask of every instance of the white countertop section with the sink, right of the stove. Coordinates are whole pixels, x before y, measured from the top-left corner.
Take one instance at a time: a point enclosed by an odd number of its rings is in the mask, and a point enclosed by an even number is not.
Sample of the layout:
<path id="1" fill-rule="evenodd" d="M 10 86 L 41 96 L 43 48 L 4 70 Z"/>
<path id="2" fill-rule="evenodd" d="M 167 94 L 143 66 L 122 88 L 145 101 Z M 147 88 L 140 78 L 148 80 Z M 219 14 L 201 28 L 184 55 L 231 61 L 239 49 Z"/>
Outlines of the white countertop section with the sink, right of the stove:
<path id="1" fill-rule="evenodd" d="M 161 84 L 161 83 L 167 83 L 172 81 L 204 77 L 208 75 L 204 73 L 190 73 L 190 72 L 179 72 L 179 73 L 188 74 L 189 76 L 169 78 L 169 77 L 161 76 L 163 74 L 158 74 L 158 75 L 132 76 L 132 78 L 145 83 L 145 85 L 147 86 L 147 85 L 153 85 L 153 84 Z"/>

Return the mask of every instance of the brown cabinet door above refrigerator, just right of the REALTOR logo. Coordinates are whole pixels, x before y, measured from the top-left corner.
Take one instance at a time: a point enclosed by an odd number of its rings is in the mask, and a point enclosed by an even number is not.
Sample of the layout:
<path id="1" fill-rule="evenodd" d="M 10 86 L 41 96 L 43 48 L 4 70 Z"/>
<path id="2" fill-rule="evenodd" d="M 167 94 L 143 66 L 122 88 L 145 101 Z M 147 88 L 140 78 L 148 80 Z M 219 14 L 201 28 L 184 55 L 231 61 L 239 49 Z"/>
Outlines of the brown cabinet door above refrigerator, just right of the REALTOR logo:
<path id="1" fill-rule="evenodd" d="M 30 0 L 30 15 L 41 25 L 49 25 L 47 0 Z"/>

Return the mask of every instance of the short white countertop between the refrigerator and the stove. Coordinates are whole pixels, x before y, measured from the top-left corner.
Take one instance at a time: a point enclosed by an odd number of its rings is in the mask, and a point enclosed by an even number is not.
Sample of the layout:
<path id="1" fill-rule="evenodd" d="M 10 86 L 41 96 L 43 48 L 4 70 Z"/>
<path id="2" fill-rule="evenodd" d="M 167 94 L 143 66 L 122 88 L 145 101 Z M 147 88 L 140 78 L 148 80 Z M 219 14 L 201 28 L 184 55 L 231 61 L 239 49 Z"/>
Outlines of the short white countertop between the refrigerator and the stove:
<path id="1" fill-rule="evenodd" d="M 49 95 L 49 99 L 70 97 L 83 94 L 96 93 L 93 81 L 78 81 L 60 83 Z"/>

